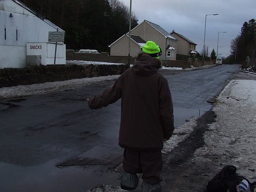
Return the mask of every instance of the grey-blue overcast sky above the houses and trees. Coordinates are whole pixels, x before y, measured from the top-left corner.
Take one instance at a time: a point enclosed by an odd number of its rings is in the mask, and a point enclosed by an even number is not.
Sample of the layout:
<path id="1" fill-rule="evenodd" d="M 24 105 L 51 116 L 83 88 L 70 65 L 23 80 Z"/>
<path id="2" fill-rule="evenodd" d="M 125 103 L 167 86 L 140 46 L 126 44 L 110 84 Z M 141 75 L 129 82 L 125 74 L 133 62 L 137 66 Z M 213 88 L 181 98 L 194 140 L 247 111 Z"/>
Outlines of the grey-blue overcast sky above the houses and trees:
<path id="1" fill-rule="evenodd" d="M 130 0 L 121 0 L 130 8 Z M 175 30 L 197 44 L 201 52 L 204 42 L 206 14 L 219 14 L 206 17 L 205 46 L 208 55 L 212 49 L 218 55 L 230 54 L 230 42 L 236 38 L 244 22 L 256 19 L 256 0 L 131 0 L 132 11 L 140 24 L 144 19 L 161 26 L 167 32 Z M 226 31 L 226 33 L 219 33 Z"/>

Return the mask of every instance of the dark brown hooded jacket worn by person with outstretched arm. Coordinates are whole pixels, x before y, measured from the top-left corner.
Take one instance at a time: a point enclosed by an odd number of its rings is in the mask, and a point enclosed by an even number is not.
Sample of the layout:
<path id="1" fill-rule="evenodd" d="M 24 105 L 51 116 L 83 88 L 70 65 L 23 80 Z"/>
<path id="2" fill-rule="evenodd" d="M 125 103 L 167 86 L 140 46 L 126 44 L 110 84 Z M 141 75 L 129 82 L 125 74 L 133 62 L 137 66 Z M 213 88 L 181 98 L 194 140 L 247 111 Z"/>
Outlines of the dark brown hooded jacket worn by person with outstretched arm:
<path id="1" fill-rule="evenodd" d="M 99 109 L 121 98 L 119 145 L 123 148 L 162 150 L 163 139 L 173 135 L 172 96 L 158 65 L 149 55 L 138 57 L 111 88 L 88 101 L 91 109 Z"/>

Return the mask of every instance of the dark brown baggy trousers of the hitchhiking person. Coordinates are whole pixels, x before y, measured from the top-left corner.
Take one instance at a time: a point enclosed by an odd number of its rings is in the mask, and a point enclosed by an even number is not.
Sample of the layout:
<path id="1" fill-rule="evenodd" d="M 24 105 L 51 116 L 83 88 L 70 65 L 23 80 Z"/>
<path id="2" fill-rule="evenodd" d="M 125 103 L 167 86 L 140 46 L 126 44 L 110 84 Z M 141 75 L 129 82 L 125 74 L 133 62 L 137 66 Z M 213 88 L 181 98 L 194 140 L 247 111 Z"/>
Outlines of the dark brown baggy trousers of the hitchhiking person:
<path id="1" fill-rule="evenodd" d="M 138 174 L 143 173 L 143 181 L 155 184 L 162 181 L 163 161 L 161 151 L 142 152 L 124 149 L 123 169 L 124 172 Z"/>

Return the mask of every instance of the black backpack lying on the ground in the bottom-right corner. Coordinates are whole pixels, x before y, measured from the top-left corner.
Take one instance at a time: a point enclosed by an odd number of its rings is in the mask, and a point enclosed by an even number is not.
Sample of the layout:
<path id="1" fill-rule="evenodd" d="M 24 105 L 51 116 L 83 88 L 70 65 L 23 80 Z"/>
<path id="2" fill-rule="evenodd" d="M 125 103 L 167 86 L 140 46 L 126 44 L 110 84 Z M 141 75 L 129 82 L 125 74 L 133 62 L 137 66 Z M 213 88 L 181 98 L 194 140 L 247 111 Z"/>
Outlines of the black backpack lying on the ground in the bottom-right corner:
<path id="1" fill-rule="evenodd" d="M 237 186 L 242 180 L 246 180 L 250 185 L 250 191 L 253 192 L 256 182 L 250 183 L 248 179 L 243 176 L 238 175 L 237 168 L 233 165 L 226 165 L 222 170 L 211 179 L 207 186 L 206 192 L 237 192 Z M 248 190 L 247 190 L 248 191 Z"/>

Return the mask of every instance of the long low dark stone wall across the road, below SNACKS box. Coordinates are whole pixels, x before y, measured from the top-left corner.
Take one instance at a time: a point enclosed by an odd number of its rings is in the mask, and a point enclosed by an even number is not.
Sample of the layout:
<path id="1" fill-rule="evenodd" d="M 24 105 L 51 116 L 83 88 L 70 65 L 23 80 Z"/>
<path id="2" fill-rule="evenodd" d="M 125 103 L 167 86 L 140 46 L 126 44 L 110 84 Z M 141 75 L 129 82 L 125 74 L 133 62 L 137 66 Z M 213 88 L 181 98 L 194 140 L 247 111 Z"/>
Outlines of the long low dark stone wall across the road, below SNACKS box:
<path id="1" fill-rule="evenodd" d="M 65 65 L 31 66 L 26 68 L 0 69 L 0 88 L 62 81 L 75 78 L 119 75 L 126 70 L 125 65 Z"/>

